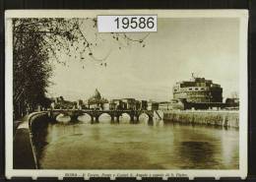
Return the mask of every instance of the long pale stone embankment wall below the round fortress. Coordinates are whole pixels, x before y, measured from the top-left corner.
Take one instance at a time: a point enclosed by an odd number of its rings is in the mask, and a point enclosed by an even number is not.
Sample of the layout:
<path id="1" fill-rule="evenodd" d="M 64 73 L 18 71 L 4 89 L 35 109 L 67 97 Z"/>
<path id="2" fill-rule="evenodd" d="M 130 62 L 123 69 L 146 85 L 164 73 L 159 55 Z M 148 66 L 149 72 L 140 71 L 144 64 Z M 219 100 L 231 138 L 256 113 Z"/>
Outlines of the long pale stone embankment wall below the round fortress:
<path id="1" fill-rule="evenodd" d="M 239 128 L 239 111 L 164 110 L 163 119 L 181 124 L 202 124 Z"/>

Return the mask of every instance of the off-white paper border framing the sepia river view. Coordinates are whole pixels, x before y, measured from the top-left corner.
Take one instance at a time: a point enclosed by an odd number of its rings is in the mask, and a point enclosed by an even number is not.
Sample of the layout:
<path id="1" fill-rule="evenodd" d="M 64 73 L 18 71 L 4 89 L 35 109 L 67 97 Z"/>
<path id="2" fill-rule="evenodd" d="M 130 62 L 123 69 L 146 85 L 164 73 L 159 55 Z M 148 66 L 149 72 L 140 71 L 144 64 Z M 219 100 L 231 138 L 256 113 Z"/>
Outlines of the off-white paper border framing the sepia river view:
<path id="1" fill-rule="evenodd" d="M 239 32 L 239 169 L 238 170 L 48 170 L 48 169 L 13 169 L 13 55 L 12 55 L 12 21 L 11 18 L 96 18 L 97 15 L 158 15 L 158 18 L 237 18 L 240 22 Z M 190 179 L 194 177 L 241 177 L 247 176 L 247 131 L 248 131 L 248 79 L 247 79 L 247 10 L 8 10 L 5 12 L 5 144 L 6 177 L 58 177 L 62 179 L 69 173 L 185 173 Z M 230 70 L 231 71 L 231 70 Z M 184 161 L 186 162 L 186 161 Z M 85 176 L 85 179 L 88 179 Z"/>

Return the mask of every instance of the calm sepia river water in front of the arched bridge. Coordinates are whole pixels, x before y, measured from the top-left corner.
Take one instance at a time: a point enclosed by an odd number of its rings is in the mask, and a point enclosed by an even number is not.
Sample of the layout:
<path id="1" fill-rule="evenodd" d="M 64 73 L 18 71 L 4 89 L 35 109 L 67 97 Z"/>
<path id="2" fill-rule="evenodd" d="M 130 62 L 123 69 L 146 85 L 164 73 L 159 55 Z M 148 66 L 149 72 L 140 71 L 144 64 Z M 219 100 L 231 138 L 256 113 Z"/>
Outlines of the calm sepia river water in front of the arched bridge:
<path id="1" fill-rule="evenodd" d="M 109 119 L 109 118 L 108 118 Z M 110 119 L 109 119 L 110 120 Z M 49 124 L 44 169 L 238 169 L 239 132 L 166 121 Z"/>

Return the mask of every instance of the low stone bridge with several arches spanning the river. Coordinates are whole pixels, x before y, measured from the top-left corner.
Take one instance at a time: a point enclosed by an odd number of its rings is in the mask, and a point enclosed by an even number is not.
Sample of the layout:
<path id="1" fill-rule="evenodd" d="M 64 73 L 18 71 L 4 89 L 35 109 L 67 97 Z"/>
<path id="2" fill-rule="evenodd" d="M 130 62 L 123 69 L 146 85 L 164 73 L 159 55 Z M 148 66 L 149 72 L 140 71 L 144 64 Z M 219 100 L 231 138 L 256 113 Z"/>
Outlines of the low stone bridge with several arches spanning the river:
<path id="1" fill-rule="evenodd" d="M 71 117 L 71 121 L 77 121 L 78 117 L 84 114 L 91 116 L 92 123 L 98 122 L 98 118 L 101 114 L 108 114 L 111 117 L 111 121 L 119 122 L 119 117 L 126 113 L 130 116 L 132 123 L 138 122 L 141 114 L 145 113 L 149 117 L 149 121 L 153 121 L 153 110 L 78 110 L 78 109 L 54 109 L 50 111 L 50 115 L 56 119 L 59 114 L 64 114 Z"/>

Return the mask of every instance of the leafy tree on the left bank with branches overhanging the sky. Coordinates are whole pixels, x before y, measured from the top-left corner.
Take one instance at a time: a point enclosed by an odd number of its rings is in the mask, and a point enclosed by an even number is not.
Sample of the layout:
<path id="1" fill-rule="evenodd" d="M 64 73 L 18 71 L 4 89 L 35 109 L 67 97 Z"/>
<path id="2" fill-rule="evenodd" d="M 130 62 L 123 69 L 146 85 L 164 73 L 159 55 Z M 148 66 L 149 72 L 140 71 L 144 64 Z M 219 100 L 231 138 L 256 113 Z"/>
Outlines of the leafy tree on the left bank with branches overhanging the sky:
<path id="1" fill-rule="evenodd" d="M 36 105 L 45 102 L 47 87 L 51 84 L 54 60 L 66 65 L 60 56 L 74 56 L 80 61 L 92 59 L 100 65 L 108 55 L 98 59 L 93 49 L 96 42 L 91 42 L 81 29 L 87 25 L 96 29 L 96 19 L 62 19 L 62 18 L 26 18 L 13 19 L 13 59 L 14 59 L 14 114 L 22 116 Z M 143 43 L 148 36 L 132 39 L 125 33 L 111 33 L 114 40 Z M 145 44 L 143 43 L 143 47 Z M 119 47 L 121 49 L 121 46 Z M 74 53 L 75 52 L 75 53 Z"/>

